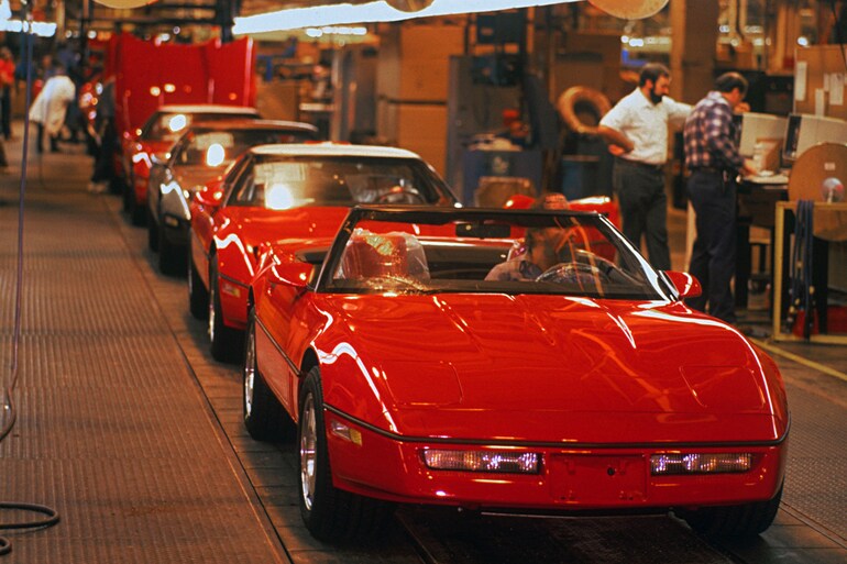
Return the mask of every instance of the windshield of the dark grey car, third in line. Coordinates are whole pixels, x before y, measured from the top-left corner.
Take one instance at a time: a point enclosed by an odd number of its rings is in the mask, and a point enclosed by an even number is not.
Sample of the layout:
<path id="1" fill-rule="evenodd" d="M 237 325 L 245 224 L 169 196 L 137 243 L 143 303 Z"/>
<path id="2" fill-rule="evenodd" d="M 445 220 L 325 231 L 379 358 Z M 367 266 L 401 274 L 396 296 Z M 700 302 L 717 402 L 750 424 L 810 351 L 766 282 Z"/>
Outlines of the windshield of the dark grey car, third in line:
<path id="1" fill-rule="evenodd" d="M 274 143 L 302 143 L 315 139 L 308 130 L 231 130 L 189 132 L 176 154 L 180 166 L 218 167 L 231 163 L 252 146 Z"/>

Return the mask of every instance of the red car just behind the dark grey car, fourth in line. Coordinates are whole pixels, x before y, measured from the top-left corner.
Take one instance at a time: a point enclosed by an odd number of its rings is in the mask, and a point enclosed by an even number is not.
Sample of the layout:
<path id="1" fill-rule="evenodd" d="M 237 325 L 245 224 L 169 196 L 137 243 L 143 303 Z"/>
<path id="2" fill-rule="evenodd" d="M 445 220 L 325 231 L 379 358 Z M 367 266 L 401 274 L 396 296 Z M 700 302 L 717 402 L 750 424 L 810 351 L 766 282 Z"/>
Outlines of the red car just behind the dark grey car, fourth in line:
<path id="1" fill-rule="evenodd" d="M 142 225 L 147 201 L 147 181 L 154 153 L 164 153 L 194 121 L 258 119 L 254 108 L 211 103 L 162 106 L 121 142 L 124 174 L 124 210 L 132 223 Z"/>

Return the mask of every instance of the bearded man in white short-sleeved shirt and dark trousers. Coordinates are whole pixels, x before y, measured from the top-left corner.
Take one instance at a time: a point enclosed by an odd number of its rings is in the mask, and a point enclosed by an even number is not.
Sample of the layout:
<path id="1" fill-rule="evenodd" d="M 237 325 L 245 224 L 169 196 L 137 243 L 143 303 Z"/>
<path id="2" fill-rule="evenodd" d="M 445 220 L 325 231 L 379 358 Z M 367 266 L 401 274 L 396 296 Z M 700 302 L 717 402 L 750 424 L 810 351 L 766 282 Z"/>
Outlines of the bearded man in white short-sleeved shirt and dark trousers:
<path id="1" fill-rule="evenodd" d="M 645 65 L 638 88 L 600 122 L 600 133 L 616 156 L 612 185 L 620 204 L 624 234 L 639 250 L 644 236 L 650 264 L 660 270 L 671 267 L 664 192 L 668 125 L 681 128 L 692 110 L 668 97 L 670 84 L 668 67 Z"/>

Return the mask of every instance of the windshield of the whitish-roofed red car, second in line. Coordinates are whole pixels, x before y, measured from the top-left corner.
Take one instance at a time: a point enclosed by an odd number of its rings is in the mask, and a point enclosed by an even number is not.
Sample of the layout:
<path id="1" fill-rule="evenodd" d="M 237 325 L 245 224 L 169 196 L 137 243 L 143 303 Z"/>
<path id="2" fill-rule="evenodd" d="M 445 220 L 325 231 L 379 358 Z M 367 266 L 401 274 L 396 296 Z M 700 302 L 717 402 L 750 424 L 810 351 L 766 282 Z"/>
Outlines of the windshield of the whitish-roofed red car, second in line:
<path id="1" fill-rule="evenodd" d="M 256 155 L 228 204 L 287 210 L 356 203 L 448 206 L 454 201 L 441 179 L 415 158 Z"/>

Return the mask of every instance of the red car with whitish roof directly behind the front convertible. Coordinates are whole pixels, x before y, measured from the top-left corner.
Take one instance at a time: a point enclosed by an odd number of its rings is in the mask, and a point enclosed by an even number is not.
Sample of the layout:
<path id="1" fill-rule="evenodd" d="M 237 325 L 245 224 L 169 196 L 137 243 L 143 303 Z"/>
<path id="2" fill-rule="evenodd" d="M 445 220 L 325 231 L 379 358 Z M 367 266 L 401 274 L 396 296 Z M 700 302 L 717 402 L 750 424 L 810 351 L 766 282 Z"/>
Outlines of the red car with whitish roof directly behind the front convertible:
<path id="1" fill-rule="evenodd" d="M 408 151 L 333 143 L 254 147 L 190 206 L 188 297 L 208 314 L 212 356 L 237 358 L 263 245 L 332 236 L 356 203 L 455 206 L 436 172 Z"/>

